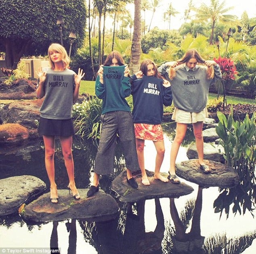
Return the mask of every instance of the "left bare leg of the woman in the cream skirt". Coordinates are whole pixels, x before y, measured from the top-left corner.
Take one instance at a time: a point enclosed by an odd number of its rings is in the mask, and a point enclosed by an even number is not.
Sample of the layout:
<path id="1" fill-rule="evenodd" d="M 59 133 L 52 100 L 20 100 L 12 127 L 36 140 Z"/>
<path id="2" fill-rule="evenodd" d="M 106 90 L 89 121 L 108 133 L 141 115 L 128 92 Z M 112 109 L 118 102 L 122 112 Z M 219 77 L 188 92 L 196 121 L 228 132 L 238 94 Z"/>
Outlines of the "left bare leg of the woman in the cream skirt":
<path id="1" fill-rule="evenodd" d="M 172 142 L 171 157 L 170 157 L 169 172 L 171 175 L 175 175 L 175 162 L 178 155 L 178 150 L 186 135 L 186 132 L 187 132 L 187 124 L 176 123 L 176 135 Z M 178 179 L 175 181 L 178 181 Z"/>

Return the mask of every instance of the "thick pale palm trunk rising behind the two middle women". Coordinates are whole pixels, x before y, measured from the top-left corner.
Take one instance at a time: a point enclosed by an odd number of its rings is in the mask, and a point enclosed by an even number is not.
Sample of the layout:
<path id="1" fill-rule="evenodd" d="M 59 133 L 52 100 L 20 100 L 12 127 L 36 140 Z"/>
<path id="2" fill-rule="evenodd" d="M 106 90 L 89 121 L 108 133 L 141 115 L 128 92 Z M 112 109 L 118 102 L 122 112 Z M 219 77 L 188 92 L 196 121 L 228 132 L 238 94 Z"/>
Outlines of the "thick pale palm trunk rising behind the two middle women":
<path id="1" fill-rule="evenodd" d="M 132 73 L 139 70 L 141 58 L 141 0 L 134 0 L 134 29 L 129 67 Z"/>

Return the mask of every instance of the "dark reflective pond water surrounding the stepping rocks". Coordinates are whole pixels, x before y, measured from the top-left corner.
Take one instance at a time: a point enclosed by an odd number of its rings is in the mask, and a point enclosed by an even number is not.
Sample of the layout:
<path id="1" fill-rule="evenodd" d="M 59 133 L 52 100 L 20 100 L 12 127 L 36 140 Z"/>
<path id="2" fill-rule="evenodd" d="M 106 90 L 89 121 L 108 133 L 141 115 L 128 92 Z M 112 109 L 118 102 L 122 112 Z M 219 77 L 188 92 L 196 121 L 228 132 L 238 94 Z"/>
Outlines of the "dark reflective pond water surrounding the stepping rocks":
<path id="1" fill-rule="evenodd" d="M 164 125 L 166 155 L 161 167 L 168 172 L 173 124 Z M 187 160 L 193 133 L 187 132 L 177 162 Z M 74 140 L 73 157 L 76 185 L 88 188 L 96 149 Z M 56 182 L 59 189 L 67 186 L 67 173 L 57 142 L 55 155 Z M 153 171 L 155 148 L 145 142 L 145 167 Z M 117 150 L 115 173 L 100 180 L 109 194 L 111 181 L 123 169 L 122 154 Z M 42 140 L 13 152 L 0 154 L 0 178 L 33 175 L 49 186 L 44 167 Z M 118 202 L 119 215 L 107 222 L 66 220 L 30 224 L 18 214 L 0 217 L 0 253 L 62 254 L 140 254 L 140 253 L 256 253 L 256 212 L 248 188 L 239 185 L 223 192 L 217 187 L 200 188 L 181 179 L 194 191 L 179 198 L 155 198 L 134 204 Z M 49 187 L 46 190 L 49 191 Z M 247 209 L 246 209 L 247 207 Z M 239 213 L 241 209 L 241 214 Z M 243 211 L 244 210 L 244 211 Z M 59 252 L 57 252 L 59 248 Z M 5 252 L 4 252 L 5 251 Z"/>

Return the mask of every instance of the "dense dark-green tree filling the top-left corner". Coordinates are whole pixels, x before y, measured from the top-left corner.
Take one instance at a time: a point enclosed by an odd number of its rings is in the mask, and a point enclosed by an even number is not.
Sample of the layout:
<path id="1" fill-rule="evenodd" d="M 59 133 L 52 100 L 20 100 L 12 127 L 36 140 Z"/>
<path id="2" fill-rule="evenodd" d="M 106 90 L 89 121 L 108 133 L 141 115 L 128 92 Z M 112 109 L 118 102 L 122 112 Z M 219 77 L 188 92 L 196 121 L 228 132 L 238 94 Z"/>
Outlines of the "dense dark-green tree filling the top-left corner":
<path id="1" fill-rule="evenodd" d="M 46 54 L 50 43 L 60 43 L 59 16 L 67 52 L 69 33 L 76 34 L 75 52 L 84 41 L 86 10 L 85 0 L 1 0 L 0 51 L 6 53 L 6 67 L 15 68 L 24 54 Z"/>

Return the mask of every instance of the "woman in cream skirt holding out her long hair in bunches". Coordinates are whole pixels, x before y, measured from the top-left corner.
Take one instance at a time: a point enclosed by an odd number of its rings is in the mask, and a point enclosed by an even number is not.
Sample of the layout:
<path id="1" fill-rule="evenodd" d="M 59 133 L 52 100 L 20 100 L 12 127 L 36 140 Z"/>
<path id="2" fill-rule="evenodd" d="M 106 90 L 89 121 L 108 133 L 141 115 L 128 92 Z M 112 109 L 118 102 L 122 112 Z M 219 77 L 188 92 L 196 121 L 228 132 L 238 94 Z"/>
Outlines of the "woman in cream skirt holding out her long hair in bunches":
<path id="1" fill-rule="evenodd" d="M 170 154 L 169 180 L 180 183 L 175 174 L 175 161 L 180 144 L 187 132 L 188 124 L 193 125 L 193 132 L 199 159 L 199 169 L 210 173 L 204 163 L 203 121 L 208 116 L 206 103 L 210 85 L 221 78 L 220 66 L 213 60 L 204 60 L 195 49 L 188 50 L 177 61 L 167 62 L 159 67 L 159 72 L 166 77 L 172 87 L 176 136 L 172 142 Z"/>

